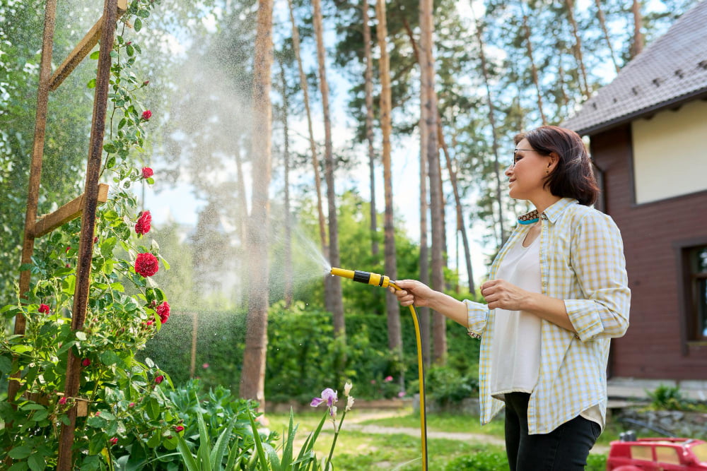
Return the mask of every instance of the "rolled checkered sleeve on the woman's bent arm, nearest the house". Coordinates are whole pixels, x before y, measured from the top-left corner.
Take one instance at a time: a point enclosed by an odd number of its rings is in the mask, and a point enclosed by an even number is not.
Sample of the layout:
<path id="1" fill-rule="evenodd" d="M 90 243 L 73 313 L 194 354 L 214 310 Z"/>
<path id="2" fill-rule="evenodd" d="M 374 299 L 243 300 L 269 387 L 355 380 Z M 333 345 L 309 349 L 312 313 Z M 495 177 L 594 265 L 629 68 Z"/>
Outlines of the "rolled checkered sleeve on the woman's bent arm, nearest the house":
<path id="1" fill-rule="evenodd" d="M 582 341 L 621 337 L 631 291 L 619 228 L 607 215 L 587 213 L 575 230 L 570 261 L 585 299 L 564 300 L 570 321 Z"/>

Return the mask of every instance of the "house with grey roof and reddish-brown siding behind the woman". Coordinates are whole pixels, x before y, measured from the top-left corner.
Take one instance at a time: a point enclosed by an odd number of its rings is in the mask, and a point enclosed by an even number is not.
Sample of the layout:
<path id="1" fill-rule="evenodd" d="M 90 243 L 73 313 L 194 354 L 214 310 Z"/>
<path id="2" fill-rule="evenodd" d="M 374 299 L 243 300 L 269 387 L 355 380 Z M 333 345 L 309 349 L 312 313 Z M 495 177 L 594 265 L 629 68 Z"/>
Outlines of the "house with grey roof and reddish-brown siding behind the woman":
<path id="1" fill-rule="evenodd" d="M 624 237 L 631 325 L 612 342 L 609 374 L 698 383 L 705 395 L 707 1 L 562 126 L 588 136 L 597 208 Z"/>

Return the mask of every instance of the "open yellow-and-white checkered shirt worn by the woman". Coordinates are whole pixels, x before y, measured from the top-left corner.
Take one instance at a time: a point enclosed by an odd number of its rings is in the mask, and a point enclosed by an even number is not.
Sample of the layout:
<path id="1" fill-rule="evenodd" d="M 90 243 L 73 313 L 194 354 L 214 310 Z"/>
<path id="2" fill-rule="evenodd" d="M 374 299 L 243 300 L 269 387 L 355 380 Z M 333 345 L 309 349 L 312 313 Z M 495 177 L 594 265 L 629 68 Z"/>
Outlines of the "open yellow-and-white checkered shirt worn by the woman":
<path id="1" fill-rule="evenodd" d="M 599 405 L 605 420 L 609 341 L 626 333 L 631 302 L 624 244 L 611 217 L 562 198 L 539 218 L 542 294 L 564 300 L 577 333 L 542 320 L 539 377 L 528 403 L 529 434 L 547 434 L 593 405 Z M 529 227 L 516 225 L 493 261 L 489 280 Z M 481 424 L 487 424 L 503 407 L 503 401 L 491 397 L 489 386 L 496 311 L 486 304 L 464 303 L 469 335 L 481 338 L 479 398 Z"/>

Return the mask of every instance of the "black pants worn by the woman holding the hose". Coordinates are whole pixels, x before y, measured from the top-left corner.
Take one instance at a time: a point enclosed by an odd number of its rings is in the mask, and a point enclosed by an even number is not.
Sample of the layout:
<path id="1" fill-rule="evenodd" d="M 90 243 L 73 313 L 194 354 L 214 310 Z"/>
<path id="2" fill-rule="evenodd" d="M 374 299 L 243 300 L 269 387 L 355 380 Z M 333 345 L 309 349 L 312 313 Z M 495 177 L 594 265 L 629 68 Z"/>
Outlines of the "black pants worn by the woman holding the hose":
<path id="1" fill-rule="evenodd" d="M 583 470 L 599 438 L 596 422 L 577 416 L 549 434 L 528 435 L 530 394 L 506 394 L 506 454 L 510 471 Z"/>

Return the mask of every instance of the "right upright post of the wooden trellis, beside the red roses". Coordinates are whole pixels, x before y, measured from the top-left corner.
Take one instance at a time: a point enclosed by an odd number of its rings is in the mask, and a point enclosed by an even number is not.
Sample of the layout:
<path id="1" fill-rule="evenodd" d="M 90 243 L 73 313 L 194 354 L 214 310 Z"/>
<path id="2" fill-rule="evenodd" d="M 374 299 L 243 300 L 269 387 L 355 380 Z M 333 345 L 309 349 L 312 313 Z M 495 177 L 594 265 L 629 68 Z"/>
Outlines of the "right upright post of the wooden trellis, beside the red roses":
<path id="1" fill-rule="evenodd" d="M 90 263 L 93 256 L 93 233 L 95 225 L 95 210 L 98 205 L 98 177 L 100 176 L 100 161 L 103 153 L 103 134 L 105 131 L 105 116 L 110 85 L 110 52 L 115 35 L 117 18 L 117 0 L 105 0 L 103 6 L 103 30 L 100 35 L 100 56 L 98 58 L 98 76 L 96 77 L 95 95 L 93 99 L 93 122 L 91 125 L 90 143 L 88 145 L 88 165 L 86 166 L 86 186 L 83 213 L 81 214 L 81 235 L 78 242 L 78 263 L 76 265 L 76 291 L 74 292 L 74 309 L 72 309 L 71 330 L 83 329 L 88 305 L 88 288 L 90 285 Z M 64 397 L 74 398 L 78 393 L 78 383 L 81 376 L 81 364 L 69 350 L 66 364 L 66 386 Z M 71 448 L 74 445 L 74 430 L 76 429 L 76 405 L 68 411 L 69 424 L 62 425 L 59 437 L 59 471 L 72 469 L 73 457 Z"/>

